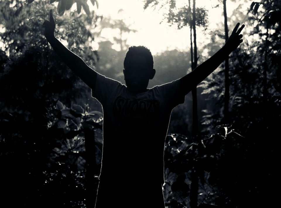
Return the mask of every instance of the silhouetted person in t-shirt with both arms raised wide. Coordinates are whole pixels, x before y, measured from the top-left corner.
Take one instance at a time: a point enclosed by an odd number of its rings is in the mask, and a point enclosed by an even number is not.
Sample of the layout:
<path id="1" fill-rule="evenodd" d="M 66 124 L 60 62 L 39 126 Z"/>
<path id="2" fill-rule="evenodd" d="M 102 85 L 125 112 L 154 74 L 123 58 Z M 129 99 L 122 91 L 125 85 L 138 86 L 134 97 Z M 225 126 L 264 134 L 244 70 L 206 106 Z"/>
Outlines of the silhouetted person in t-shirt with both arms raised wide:
<path id="1" fill-rule="evenodd" d="M 54 36 L 55 22 L 45 20 L 44 35 L 52 48 L 91 89 L 103 106 L 103 152 L 96 208 L 164 208 L 164 144 L 172 109 L 212 73 L 242 42 L 239 23 L 215 55 L 186 76 L 147 89 L 153 57 L 144 46 L 130 47 L 124 59 L 126 86 L 106 78 L 64 47 Z M 238 29 L 238 30 L 237 30 Z"/>

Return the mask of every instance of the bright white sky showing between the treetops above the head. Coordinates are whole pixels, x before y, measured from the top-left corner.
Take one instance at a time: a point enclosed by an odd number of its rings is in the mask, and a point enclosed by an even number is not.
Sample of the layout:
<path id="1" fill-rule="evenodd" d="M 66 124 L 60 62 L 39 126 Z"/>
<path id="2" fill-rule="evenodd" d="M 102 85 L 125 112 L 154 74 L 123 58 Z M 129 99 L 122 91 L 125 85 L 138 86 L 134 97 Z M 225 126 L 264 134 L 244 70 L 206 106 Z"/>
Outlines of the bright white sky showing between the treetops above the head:
<path id="1" fill-rule="evenodd" d="M 99 9 L 95 6 L 94 9 L 97 14 L 103 16 L 111 16 L 113 19 L 119 19 L 119 9 L 123 9 L 121 13 L 127 24 L 132 24 L 131 28 L 138 30 L 136 33 L 130 33 L 128 35 L 127 43 L 129 45 L 144 45 L 148 47 L 153 54 L 159 53 L 164 50 L 171 50 L 178 48 L 179 50 L 187 51 L 189 46 L 189 28 L 177 29 L 174 25 L 169 27 L 166 20 L 159 24 L 163 20 L 163 10 L 153 10 L 153 8 L 147 8 L 143 10 L 142 0 L 98 0 Z M 165 0 L 163 0 L 164 2 Z M 187 0 L 177 0 L 177 7 L 180 7 L 184 3 L 188 3 Z M 217 23 L 223 22 L 223 10 L 222 6 L 219 8 L 213 8 L 217 4 L 216 0 L 196 0 L 197 7 L 204 7 L 209 11 L 209 29 L 217 29 Z M 237 0 L 233 2 L 227 1 L 227 15 L 232 13 L 232 10 L 237 8 L 240 2 L 243 0 Z M 191 0 L 192 3 L 192 0 Z M 249 4 L 245 4 L 245 10 L 249 8 Z M 88 1 L 88 5 L 91 5 Z M 198 45 L 207 40 L 203 36 L 202 32 L 198 31 Z M 101 34 L 102 37 L 108 40 L 113 40 L 114 32 L 109 29 L 104 30 Z M 96 39 L 97 40 L 97 39 Z M 104 39 L 103 39 L 104 40 Z M 97 40 L 98 41 L 98 40 Z M 118 46 L 115 46 L 118 49 Z"/>

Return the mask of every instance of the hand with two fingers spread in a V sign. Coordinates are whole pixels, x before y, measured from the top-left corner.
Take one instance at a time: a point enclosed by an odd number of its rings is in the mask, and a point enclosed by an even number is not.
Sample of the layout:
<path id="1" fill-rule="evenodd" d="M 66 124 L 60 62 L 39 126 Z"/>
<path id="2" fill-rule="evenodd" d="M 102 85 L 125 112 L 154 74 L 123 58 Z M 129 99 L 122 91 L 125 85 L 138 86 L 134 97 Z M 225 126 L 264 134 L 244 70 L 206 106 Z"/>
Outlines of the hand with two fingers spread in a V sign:
<path id="1" fill-rule="evenodd" d="M 234 51 L 240 45 L 240 43 L 243 42 L 243 40 L 241 39 L 242 38 L 242 34 L 240 34 L 240 32 L 245 27 L 245 25 L 242 25 L 238 29 L 239 25 L 240 25 L 240 23 L 238 22 L 237 25 L 234 27 L 234 29 L 233 29 L 229 39 L 225 43 L 225 47 L 227 48 L 229 53 Z"/>

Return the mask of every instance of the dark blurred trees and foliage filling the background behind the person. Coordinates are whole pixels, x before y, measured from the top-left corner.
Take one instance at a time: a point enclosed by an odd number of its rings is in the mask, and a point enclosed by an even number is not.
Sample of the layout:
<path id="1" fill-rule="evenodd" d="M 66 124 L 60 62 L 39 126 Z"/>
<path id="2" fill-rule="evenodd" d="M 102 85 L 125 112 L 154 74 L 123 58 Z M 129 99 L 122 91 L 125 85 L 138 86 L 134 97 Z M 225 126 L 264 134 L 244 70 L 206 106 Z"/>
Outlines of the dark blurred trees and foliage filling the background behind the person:
<path id="1" fill-rule="evenodd" d="M 0 1 L 0 184 L 5 190 L 0 204 L 90 207 L 100 171 L 102 108 L 48 46 L 42 23 L 56 7 L 56 37 L 97 72 L 122 83 L 125 34 L 137 31 L 125 20 L 95 14 L 91 5 L 98 6 L 97 1 L 28 2 Z M 157 2 L 161 1 L 145 5 Z M 168 1 L 165 20 L 179 29 L 188 27 L 186 39 L 191 42 L 188 51 L 154 55 L 157 73 L 149 87 L 181 78 L 193 69 L 195 58 L 200 64 L 223 46 L 225 23 L 210 31 L 208 11 L 197 8 L 197 33 L 205 32 L 210 43 L 200 45 L 200 55 L 195 56 L 191 3 L 178 7 L 176 1 Z M 192 200 L 193 207 L 278 203 L 280 10 L 280 1 L 266 0 L 246 10 L 241 4 L 227 14 L 229 29 L 238 21 L 247 29 L 243 44 L 229 56 L 228 120 L 223 63 L 198 85 L 197 136 L 191 134 L 191 93 L 172 112 L 165 143 L 168 207 L 191 207 Z M 96 38 L 105 28 L 118 33 L 113 41 L 100 41 L 97 49 Z M 120 50 L 112 47 L 116 43 Z M 196 196 L 191 194 L 194 173 Z"/>

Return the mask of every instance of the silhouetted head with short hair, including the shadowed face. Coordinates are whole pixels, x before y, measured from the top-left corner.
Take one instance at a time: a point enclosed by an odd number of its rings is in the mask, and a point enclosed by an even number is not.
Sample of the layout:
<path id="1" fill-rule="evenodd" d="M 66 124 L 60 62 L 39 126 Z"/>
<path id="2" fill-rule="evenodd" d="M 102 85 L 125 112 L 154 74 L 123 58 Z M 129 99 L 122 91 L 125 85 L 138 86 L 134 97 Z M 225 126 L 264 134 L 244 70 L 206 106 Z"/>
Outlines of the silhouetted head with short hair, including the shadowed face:
<path id="1" fill-rule="evenodd" d="M 124 59 L 124 79 L 128 90 L 144 92 L 155 75 L 153 56 L 144 46 L 131 46 Z"/>

